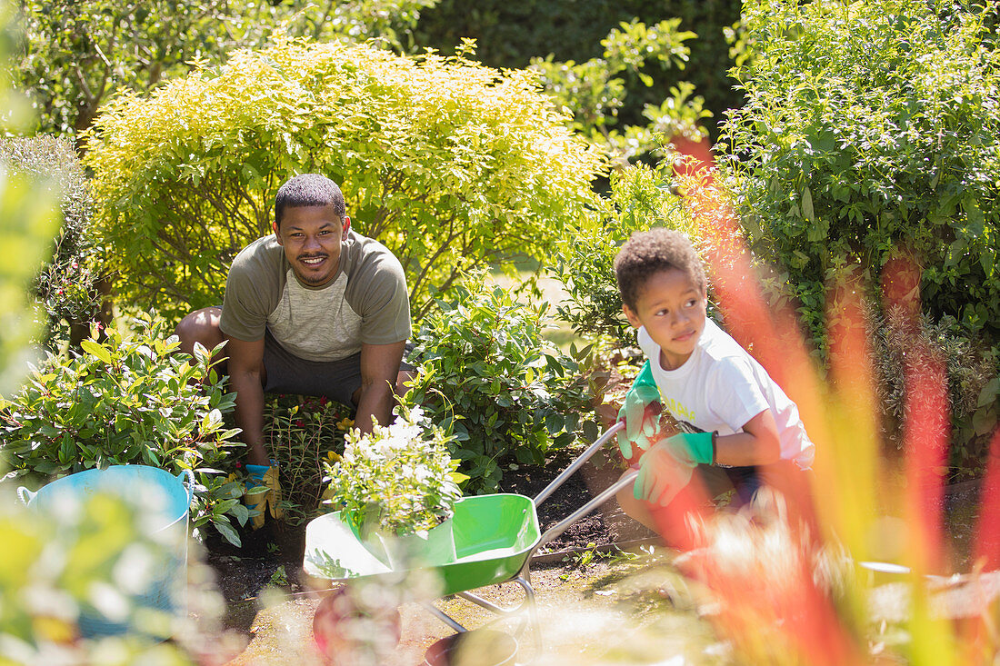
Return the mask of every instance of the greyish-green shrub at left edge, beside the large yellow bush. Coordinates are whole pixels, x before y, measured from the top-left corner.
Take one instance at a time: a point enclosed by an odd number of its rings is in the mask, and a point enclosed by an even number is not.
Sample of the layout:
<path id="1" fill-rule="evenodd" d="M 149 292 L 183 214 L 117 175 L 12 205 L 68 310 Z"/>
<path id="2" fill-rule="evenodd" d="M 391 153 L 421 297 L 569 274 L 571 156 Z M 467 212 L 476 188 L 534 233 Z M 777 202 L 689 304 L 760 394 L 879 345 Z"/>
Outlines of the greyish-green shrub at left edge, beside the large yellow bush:
<path id="1" fill-rule="evenodd" d="M 45 179 L 60 194 L 62 229 L 34 287 L 47 315 L 41 343 L 54 352 L 70 340 L 71 326 L 96 320 L 101 309 L 87 177 L 72 145 L 51 136 L 0 140 L 0 159 L 29 178 Z"/>

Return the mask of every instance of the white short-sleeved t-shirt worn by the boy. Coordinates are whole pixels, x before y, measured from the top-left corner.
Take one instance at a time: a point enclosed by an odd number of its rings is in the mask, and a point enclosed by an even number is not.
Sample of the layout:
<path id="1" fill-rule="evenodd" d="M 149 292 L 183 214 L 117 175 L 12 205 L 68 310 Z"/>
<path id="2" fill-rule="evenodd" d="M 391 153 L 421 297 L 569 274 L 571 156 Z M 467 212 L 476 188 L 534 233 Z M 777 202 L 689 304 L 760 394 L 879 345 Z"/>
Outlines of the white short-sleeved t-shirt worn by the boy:
<path id="1" fill-rule="evenodd" d="M 639 328 L 639 347 L 649 359 L 663 407 L 690 432 L 743 432 L 743 425 L 770 409 L 778 425 L 782 460 L 812 465 L 815 450 L 789 400 L 764 367 L 711 319 L 705 320 L 690 358 L 676 370 L 660 365 L 660 346 Z"/>

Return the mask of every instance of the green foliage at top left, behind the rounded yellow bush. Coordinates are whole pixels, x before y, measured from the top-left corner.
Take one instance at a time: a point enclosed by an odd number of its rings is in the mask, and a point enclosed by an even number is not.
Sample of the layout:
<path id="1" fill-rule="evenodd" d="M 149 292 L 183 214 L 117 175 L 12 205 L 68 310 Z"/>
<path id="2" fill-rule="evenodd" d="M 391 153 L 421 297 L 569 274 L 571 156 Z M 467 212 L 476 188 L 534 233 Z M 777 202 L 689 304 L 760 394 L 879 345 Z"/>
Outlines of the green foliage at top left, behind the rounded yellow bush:
<path id="1" fill-rule="evenodd" d="M 24 0 L 16 85 L 43 132 L 79 139 L 119 87 L 150 90 L 194 61 L 282 39 L 377 38 L 409 43 L 420 10 L 435 0 Z"/>

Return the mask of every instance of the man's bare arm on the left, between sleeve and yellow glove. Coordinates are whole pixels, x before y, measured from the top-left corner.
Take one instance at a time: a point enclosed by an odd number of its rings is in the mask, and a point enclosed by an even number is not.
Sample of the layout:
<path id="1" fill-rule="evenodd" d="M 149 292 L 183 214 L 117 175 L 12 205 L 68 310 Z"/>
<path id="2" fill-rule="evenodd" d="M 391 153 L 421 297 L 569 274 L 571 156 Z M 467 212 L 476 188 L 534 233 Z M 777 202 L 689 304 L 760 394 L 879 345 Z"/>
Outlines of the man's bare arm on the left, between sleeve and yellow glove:
<path id="1" fill-rule="evenodd" d="M 247 445 L 246 461 L 270 465 L 264 450 L 264 340 L 247 342 L 229 338 L 229 381 L 236 392 L 236 425 Z"/>

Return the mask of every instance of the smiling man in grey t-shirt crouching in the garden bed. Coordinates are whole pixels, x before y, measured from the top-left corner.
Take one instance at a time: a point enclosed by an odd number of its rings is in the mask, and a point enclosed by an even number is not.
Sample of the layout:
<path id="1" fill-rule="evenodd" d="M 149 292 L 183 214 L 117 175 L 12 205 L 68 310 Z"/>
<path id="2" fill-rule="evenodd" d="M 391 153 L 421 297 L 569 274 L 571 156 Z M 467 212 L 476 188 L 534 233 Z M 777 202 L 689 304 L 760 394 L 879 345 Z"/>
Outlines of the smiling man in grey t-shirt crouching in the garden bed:
<path id="1" fill-rule="evenodd" d="M 222 308 L 185 317 L 181 349 L 227 340 L 236 425 L 248 447 L 247 470 L 270 488 L 251 498 L 278 517 L 277 469 L 263 444 L 264 393 L 326 396 L 356 407 L 363 433 L 388 423 L 393 391 L 413 368 L 402 363 L 410 336 L 406 277 L 381 243 L 351 230 L 344 196 L 329 178 L 304 174 L 278 190 L 274 234 L 233 260 Z"/>

